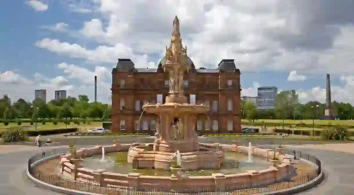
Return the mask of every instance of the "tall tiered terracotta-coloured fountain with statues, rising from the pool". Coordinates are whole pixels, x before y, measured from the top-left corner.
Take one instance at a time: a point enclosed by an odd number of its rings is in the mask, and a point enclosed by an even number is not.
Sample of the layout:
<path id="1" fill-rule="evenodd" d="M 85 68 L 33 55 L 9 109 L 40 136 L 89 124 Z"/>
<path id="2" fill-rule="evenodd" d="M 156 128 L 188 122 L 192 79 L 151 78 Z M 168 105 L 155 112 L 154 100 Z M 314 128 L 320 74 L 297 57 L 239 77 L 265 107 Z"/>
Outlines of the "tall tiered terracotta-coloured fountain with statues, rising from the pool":
<path id="1" fill-rule="evenodd" d="M 179 151 L 180 167 L 190 169 L 217 169 L 224 162 L 223 151 L 218 145 L 203 147 L 198 143 L 195 132 L 196 116 L 209 111 L 209 106 L 188 104 L 183 90 L 183 74 L 189 71 L 187 47 L 183 47 L 177 16 L 173 21 L 171 45 L 166 47 L 163 65 L 169 73 L 169 95 L 165 104 L 144 104 L 143 110 L 158 116 L 156 140 L 151 146 L 133 146 L 128 153 L 128 162 L 136 168 L 158 168 L 169 170 L 176 161 Z"/>

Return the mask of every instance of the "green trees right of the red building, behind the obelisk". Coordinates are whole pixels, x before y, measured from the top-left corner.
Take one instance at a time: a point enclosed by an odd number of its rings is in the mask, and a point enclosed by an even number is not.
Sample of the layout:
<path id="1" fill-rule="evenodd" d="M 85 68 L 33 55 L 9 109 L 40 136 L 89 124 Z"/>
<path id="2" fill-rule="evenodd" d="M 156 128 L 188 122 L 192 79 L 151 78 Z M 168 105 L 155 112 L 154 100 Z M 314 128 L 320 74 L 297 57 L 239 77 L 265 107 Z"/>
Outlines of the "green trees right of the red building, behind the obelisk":
<path id="1" fill-rule="evenodd" d="M 324 119 L 326 105 L 318 101 L 300 104 L 295 90 L 281 91 L 275 98 L 274 110 L 261 110 L 251 101 L 242 101 L 242 118 L 256 119 Z M 349 103 L 332 102 L 332 111 L 341 120 L 354 119 L 354 108 Z"/>

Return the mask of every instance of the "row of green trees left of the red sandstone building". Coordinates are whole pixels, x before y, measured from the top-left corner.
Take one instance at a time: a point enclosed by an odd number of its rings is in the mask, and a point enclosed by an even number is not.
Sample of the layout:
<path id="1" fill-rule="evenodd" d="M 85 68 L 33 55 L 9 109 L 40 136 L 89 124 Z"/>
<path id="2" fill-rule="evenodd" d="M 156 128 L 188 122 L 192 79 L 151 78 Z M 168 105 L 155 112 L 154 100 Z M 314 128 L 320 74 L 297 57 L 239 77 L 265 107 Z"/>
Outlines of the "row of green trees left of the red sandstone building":
<path id="1" fill-rule="evenodd" d="M 110 117 L 110 105 L 101 102 L 89 102 L 87 95 L 79 95 L 78 98 L 70 97 L 60 100 L 45 102 L 35 99 L 27 102 L 19 99 L 12 102 L 7 95 L 0 99 L 0 119 L 9 122 L 14 119 L 31 119 L 31 121 L 73 118 L 101 118 Z M 1 115 L 2 113 L 2 115 Z"/>

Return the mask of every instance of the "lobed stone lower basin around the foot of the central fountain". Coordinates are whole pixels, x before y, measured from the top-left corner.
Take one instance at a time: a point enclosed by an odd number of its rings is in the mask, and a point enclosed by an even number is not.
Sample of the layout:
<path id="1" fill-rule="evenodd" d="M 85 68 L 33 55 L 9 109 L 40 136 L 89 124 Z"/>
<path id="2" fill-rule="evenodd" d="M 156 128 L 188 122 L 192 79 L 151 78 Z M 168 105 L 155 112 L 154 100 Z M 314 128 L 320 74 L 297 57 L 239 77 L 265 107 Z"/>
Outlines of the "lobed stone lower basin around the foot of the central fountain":
<path id="1" fill-rule="evenodd" d="M 184 144 L 181 141 L 178 143 Z M 127 161 L 132 163 L 135 169 L 173 169 L 174 153 L 153 151 L 153 147 L 153 144 L 133 146 L 128 152 Z M 219 169 L 223 162 L 224 154 L 218 144 L 210 145 L 210 147 L 201 145 L 199 151 L 181 153 L 183 170 Z"/>

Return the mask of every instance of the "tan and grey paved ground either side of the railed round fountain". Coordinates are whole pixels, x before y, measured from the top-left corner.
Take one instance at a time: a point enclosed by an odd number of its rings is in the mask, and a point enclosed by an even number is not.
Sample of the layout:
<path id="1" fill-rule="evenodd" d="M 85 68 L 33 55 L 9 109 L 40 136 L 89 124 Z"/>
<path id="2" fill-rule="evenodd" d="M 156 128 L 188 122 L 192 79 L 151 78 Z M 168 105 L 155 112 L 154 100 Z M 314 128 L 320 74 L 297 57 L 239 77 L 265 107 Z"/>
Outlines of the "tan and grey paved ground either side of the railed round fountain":
<path id="1" fill-rule="evenodd" d="M 301 145 L 296 148 L 319 158 L 326 179 L 316 188 L 299 195 L 351 195 L 354 191 L 354 144 Z M 27 181 L 25 170 L 28 159 L 51 147 L 0 145 L 0 195 L 59 195 L 37 188 Z"/>

